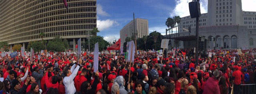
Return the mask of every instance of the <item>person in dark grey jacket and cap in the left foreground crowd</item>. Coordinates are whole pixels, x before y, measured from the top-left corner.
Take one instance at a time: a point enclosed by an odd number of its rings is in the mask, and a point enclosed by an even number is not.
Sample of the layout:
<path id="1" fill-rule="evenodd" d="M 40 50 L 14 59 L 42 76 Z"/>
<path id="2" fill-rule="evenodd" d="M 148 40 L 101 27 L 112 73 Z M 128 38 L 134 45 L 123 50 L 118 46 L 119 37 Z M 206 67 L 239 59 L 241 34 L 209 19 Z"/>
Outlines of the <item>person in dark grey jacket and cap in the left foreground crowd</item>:
<path id="1" fill-rule="evenodd" d="M 35 66 L 33 69 L 35 71 L 32 72 L 32 76 L 36 79 L 36 83 L 38 83 L 38 86 L 39 86 L 38 88 L 41 89 L 41 79 L 44 76 L 43 71 L 42 71 L 43 67 L 41 69 L 39 69 L 38 66 Z"/>

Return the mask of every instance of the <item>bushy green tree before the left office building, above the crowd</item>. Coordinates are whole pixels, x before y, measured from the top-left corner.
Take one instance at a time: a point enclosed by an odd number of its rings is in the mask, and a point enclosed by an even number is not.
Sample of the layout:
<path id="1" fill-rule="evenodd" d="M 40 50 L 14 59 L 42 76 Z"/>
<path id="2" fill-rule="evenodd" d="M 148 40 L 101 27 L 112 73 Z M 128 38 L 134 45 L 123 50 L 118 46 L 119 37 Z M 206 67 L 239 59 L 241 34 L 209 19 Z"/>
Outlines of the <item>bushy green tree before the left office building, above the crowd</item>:
<path id="1" fill-rule="evenodd" d="M 60 36 L 56 36 L 53 38 L 53 40 L 48 42 L 46 48 L 52 52 L 62 52 L 66 50 L 66 44 L 68 44 L 66 40 L 62 40 Z"/>

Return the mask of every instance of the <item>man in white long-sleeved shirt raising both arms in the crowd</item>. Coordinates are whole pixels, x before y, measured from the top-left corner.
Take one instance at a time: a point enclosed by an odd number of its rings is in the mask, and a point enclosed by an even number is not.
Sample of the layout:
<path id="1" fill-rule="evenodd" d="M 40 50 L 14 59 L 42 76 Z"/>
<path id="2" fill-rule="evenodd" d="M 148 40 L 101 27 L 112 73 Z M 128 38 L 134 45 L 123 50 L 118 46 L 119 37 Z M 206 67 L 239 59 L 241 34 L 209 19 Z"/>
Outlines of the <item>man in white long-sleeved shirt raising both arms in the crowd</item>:
<path id="1" fill-rule="evenodd" d="M 63 84 L 65 85 L 66 94 L 74 94 L 76 92 L 76 88 L 74 85 L 74 78 L 76 77 L 76 74 L 82 64 L 82 59 L 80 58 L 78 62 L 79 62 L 78 66 L 76 66 L 76 63 L 74 63 L 71 69 L 66 69 L 63 72 L 65 75 L 63 79 Z"/>

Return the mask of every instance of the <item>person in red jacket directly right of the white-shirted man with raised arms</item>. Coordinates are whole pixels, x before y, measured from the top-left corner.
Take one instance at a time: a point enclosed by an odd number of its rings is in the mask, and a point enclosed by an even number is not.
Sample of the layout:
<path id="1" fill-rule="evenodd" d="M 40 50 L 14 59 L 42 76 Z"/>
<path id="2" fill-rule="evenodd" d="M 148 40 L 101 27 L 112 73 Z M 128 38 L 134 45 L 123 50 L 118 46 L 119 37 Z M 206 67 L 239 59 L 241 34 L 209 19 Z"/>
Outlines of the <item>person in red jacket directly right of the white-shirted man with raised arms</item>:
<path id="1" fill-rule="evenodd" d="M 86 76 L 86 68 L 83 68 L 82 69 L 82 73 L 81 74 L 78 74 L 76 77 L 75 77 L 75 80 L 74 80 L 74 85 L 76 87 L 76 91 L 80 91 L 80 87 L 82 85 L 82 83 L 84 81 L 87 81 L 87 79 L 85 78 Z"/>

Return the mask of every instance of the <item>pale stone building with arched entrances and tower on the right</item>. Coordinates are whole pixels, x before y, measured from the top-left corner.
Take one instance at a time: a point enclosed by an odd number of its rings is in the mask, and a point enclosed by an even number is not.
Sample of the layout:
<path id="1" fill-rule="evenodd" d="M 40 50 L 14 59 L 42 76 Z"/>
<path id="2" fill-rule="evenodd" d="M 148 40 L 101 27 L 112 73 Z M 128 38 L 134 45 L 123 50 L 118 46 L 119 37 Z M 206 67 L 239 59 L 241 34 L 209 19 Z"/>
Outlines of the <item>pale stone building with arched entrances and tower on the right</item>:
<path id="1" fill-rule="evenodd" d="M 179 25 L 184 26 L 178 26 L 179 33 L 170 36 L 180 41 L 171 44 L 180 48 L 195 47 L 195 40 L 181 40 L 196 35 L 196 18 L 185 16 Z M 182 29 L 189 26 L 191 33 Z M 243 11 L 241 0 L 208 0 L 208 13 L 199 18 L 199 36 L 206 39 L 201 46 L 207 49 L 256 48 L 256 12 Z"/>

